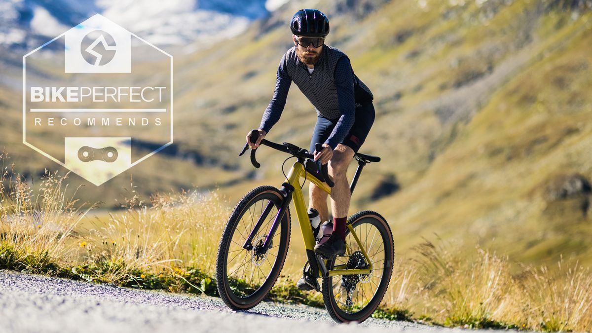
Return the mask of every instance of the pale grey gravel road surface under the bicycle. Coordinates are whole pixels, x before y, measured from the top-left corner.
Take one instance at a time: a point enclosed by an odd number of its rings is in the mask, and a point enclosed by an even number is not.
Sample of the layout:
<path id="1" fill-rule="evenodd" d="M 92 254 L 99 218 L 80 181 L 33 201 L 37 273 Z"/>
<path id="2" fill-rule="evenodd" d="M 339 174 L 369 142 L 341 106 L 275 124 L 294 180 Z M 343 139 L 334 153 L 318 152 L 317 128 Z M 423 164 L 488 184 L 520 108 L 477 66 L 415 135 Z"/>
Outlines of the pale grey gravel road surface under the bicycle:
<path id="1" fill-rule="evenodd" d="M 324 309 L 263 302 L 234 312 L 214 297 L 92 284 L 0 270 L 0 332 L 425 332 L 410 322 L 370 318 L 338 325 Z"/>

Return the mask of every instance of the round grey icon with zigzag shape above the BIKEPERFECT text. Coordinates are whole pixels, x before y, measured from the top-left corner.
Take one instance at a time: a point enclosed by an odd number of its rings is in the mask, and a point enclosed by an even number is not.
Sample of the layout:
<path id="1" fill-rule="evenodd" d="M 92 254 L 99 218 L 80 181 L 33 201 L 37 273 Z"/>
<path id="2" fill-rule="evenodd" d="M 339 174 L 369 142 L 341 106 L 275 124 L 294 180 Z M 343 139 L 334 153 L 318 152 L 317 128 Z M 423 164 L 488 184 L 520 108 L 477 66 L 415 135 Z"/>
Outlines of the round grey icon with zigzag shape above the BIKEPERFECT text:
<path id="1" fill-rule="evenodd" d="M 80 52 L 93 66 L 107 65 L 115 56 L 115 40 L 107 31 L 94 30 L 86 34 L 80 44 Z"/>

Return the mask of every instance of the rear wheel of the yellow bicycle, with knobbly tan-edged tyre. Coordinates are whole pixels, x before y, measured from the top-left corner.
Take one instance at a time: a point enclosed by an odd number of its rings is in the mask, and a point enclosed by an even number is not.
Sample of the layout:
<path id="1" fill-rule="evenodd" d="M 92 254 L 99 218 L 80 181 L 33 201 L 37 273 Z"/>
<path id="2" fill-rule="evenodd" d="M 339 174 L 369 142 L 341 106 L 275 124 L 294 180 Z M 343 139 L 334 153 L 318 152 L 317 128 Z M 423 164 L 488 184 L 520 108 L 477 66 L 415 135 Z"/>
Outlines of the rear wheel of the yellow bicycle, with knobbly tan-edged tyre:
<path id="1" fill-rule="evenodd" d="M 365 210 L 353 214 L 349 223 L 372 263 L 370 274 L 323 278 L 323 300 L 329 315 L 337 322 L 365 321 L 382 301 L 392 274 L 394 257 L 391 228 L 380 214 Z M 346 229 L 346 255 L 327 261 L 327 268 L 367 268 L 369 263 L 358 243 Z"/>

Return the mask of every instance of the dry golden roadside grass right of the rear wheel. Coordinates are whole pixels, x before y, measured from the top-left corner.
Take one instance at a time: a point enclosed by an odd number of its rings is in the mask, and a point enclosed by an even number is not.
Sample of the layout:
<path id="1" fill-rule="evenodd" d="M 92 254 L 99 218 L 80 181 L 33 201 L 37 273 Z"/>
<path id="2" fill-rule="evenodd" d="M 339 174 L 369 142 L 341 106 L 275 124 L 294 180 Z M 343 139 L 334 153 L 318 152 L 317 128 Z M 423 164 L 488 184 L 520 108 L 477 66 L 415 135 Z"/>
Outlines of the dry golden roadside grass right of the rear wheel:
<path id="1" fill-rule="evenodd" d="M 513 275 L 507 257 L 477 248 L 466 258 L 457 248 L 426 241 L 407 259 L 399 260 L 387 306 L 407 309 L 414 319 L 446 326 L 592 329 L 592 272 L 588 268 L 562 260 L 556 269 L 523 267 L 521 274 Z"/>

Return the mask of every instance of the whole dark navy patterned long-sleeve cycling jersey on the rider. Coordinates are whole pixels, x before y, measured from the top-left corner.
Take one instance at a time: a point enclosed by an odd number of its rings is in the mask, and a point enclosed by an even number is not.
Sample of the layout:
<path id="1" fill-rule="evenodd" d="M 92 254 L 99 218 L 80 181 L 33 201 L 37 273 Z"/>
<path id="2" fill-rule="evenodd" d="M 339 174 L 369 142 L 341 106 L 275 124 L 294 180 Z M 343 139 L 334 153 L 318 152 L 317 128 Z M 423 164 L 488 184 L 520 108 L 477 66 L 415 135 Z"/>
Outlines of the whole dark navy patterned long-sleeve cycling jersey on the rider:
<path id="1" fill-rule="evenodd" d="M 332 149 L 342 142 L 352 127 L 356 105 L 371 103 L 373 99 L 370 89 L 353 73 L 345 53 L 323 46 L 314 71 L 309 73 L 307 66 L 298 59 L 296 48 L 292 47 L 279 63 L 274 97 L 259 126 L 266 133 L 279 120 L 292 81 L 314 105 L 317 114 L 331 120 L 339 118 L 324 142 Z"/>

